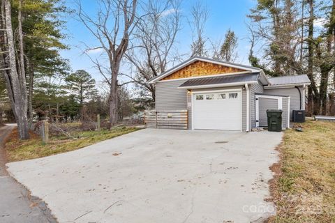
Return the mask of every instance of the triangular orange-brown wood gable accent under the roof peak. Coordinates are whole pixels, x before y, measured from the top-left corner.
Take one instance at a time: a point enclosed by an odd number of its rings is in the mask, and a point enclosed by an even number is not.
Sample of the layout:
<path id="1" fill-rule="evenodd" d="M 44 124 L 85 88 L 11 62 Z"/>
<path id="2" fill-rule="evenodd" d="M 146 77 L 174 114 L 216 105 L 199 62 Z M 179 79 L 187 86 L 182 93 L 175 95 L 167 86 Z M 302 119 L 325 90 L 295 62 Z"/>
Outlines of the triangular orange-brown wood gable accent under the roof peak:
<path id="1" fill-rule="evenodd" d="M 209 75 L 222 75 L 222 74 L 229 74 L 232 72 L 243 72 L 243 71 L 246 70 L 223 66 L 216 63 L 195 61 L 194 63 L 191 63 L 188 66 L 181 68 L 176 72 L 173 72 L 171 75 L 164 77 L 162 80 L 188 78 L 188 77 L 202 77 Z"/>

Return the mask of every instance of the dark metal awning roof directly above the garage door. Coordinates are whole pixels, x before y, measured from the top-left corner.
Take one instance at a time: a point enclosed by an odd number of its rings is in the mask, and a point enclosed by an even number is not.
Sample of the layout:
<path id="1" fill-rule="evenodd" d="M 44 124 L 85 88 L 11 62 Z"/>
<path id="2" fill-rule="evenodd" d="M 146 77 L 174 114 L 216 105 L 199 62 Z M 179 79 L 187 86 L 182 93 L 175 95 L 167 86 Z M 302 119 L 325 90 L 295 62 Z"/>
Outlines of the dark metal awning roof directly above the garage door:
<path id="1" fill-rule="evenodd" d="M 188 81 L 181 84 L 180 87 L 188 86 L 203 86 L 212 84 L 232 84 L 232 83 L 243 83 L 243 82 L 257 82 L 259 72 L 240 74 L 240 75 L 224 75 L 220 77 L 202 77 L 196 79 L 189 79 Z"/>

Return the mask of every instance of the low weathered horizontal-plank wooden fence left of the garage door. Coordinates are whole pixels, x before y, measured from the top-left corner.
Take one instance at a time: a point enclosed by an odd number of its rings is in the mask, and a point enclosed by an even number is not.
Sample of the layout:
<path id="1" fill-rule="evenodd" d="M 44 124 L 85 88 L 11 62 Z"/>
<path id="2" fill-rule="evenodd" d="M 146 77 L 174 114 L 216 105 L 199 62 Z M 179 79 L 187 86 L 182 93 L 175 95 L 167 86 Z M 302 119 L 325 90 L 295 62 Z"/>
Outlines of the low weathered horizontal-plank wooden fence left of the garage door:
<path id="1" fill-rule="evenodd" d="M 147 128 L 188 129 L 187 110 L 145 111 L 144 123 Z"/>

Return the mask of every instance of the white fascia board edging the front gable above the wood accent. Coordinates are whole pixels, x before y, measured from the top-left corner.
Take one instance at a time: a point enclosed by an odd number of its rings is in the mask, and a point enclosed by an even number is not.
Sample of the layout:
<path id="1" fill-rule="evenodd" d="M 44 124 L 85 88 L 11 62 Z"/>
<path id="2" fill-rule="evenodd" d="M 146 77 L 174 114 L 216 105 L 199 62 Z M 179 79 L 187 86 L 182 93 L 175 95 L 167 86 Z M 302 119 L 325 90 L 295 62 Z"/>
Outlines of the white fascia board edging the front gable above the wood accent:
<path id="1" fill-rule="evenodd" d="M 149 81 L 148 83 L 149 84 L 154 84 L 157 81 L 159 81 L 160 79 L 162 79 L 164 77 L 167 77 L 168 75 L 172 74 L 173 72 L 176 72 L 177 70 L 180 70 L 181 68 L 184 68 L 184 67 L 188 66 L 189 64 L 191 64 L 195 61 L 204 61 L 204 62 L 207 62 L 207 63 L 214 63 L 214 64 L 227 66 L 227 67 L 231 67 L 231 68 L 238 68 L 238 69 L 241 69 L 241 70 L 245 70 L 246 72 L 260 72 L 260 69 L 246 68 L 244 66 L 238 66 L 238 65 L 234 65 L 234 64 L 230 64 L 230 63 L 221 62 L 221 61 L 213 61 L 213 60 L 209 60 L 209 59 L 195 57 L 195 58 L 187 61 L 186 63 L 181 63 L 179 66 L 177 66 L 175 68 L 172 68 L 172 70 L 168 70 L 167 72 L 165 72 L 164 75 L 157 76 L 154 79 L 151 79 L 151 81 Z M 229 73 L 227 73 L 226 75 L 229 75 Z"/>

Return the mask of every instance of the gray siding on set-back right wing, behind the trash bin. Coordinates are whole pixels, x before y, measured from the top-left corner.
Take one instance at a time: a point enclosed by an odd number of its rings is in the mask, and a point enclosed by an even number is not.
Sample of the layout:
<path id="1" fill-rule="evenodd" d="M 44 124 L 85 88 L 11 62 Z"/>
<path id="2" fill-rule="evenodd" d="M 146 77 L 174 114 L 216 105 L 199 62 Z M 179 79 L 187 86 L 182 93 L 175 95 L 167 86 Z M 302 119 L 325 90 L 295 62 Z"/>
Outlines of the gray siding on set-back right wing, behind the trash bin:
<path id="1" fill-rule="evenodd" d="M 304 88 L 299 87 L 301 91 L 301 97 L 304 97 Z M 285 89 L 265 89 L 264 93 L 269 95 L 286 95 L 290 96 L 290 121 L 292 121 L 292 110 L 300 109 L 300 96 L 299 91 L 295 87 Z M 301 109 L 304 109 L 303 98 L 301 98 Z"/>

